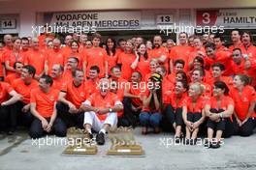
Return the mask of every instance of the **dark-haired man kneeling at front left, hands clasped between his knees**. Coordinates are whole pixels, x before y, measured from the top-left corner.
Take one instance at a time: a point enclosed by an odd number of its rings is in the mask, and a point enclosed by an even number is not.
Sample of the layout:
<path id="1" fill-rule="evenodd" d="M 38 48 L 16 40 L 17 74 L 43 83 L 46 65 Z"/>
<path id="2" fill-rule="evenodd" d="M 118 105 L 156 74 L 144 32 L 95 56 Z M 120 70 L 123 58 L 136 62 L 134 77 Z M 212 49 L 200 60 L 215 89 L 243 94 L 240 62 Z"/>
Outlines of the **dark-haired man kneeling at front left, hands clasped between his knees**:
<path id="1" fill-rule="evenodd" d="M 67 128 L 60 118 L 56 118 L 58 90 L 51 88 L 52 78 L 43 75 L 39 79 L 39 88 L 31 91 L 30 110 L 35 116 L 30 127 L 31 138 L 39 138 L 53 131 L 57 136 L 65 136 Z"/>

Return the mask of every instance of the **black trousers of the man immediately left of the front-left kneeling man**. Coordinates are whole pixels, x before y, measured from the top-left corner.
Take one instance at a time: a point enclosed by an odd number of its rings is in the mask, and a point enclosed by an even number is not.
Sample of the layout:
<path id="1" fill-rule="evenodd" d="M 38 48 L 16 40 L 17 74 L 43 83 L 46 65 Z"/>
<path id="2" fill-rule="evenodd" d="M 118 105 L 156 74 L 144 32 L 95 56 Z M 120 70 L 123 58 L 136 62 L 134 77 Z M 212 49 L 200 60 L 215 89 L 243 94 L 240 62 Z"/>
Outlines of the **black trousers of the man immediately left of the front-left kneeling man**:
<path id="1" fill-rule="evenodd" d="M 30 111 L 24 113 L 22 112 L 22 108 L 26 105 L 26 103 L 22 101 L 17 101 L 15 104 L 10 105 L 10 128 L 12 130 L 16 130 L 18 125 L 25 126 L 27 128 L 30 127 L 34 116 Z"/>

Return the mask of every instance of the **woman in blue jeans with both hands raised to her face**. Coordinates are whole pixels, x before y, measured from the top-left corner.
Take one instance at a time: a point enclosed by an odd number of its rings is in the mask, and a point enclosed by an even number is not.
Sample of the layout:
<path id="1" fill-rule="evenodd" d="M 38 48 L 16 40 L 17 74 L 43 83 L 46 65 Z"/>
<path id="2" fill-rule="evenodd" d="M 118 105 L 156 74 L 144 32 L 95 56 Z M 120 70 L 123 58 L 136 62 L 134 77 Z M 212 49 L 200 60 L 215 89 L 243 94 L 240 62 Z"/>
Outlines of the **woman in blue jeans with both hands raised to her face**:
<path id="1" fill-rule="evenodd" d="M 159 124 L 162 120 L 162 76 L 158 73 L 153 73 L 148 81 L 148 91 L 144 93 L 143 110 L 140 114 L 140 122 L 143 126 L 142 133 L 147 133 L 147 128 L 154 128 L 155 133 L 159 133 Z"/>

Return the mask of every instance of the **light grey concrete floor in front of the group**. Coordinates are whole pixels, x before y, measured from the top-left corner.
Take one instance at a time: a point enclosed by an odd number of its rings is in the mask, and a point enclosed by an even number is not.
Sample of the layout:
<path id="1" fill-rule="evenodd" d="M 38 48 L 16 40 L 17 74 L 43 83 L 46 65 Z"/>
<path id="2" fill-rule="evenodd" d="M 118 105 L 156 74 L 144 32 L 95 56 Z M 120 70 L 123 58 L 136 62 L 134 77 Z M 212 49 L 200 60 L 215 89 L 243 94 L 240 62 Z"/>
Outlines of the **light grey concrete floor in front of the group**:
<path id="1" fill-rule="evenodd" d="M 166 141 L 171 144 L 173 140 L 172 133 L 143 136 L 137 128 L 135 134 L 144 148 L 144 156 L 106 156 L 109 140 L 98 148 L 96 156 L 63 156 L 66 146 L 39 148 L 25 132 L 14 136 L 0 135 L 0 169 L 256 169 L 256 134 L 248 138 L 233 136 L 225 139 L 225 144 L 216 150 L 204 146 L 167 145 Z M 53 136 L 48 137 L 53 139 Z"/>

